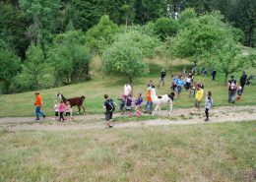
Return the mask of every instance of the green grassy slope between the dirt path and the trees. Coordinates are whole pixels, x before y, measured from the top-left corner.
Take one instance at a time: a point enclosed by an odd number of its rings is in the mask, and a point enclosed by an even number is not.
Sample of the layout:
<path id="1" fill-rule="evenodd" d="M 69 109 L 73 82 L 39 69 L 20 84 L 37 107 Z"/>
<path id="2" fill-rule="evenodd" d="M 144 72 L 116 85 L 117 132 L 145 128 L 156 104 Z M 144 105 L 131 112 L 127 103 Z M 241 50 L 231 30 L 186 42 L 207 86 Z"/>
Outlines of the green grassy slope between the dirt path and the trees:
<path id="1" fill-rule="evenodd" d="M 133 83 L 133 93 L 137 96 L 138 92 L 142 92 L 146 100 L 147 84 L 149 80 L 153 80 L 155 85 L 160 80 L 160 69 L 164 68 L 163 63 L 159 60 L 151 60 L 150 74 L 144 78 L 135 79 Z M 102 113 L 103 94 L 107 93 L 112 98 L 120 97 L 123 91 L 123 86 L 126 79 L 120 76 L 104 76 L 100 73 L 98 68 L 98 60 L 93 63 L 93 79 L 90 82 L 74 84 L 61 88 L 42 90 L 40 91 L 43 104 L 42 110 L 46 115 L 53 115 L 54 109 L 54 95 L 61 91 L 66 97 L 74 97 L 86 95 L 85 101 L 86 110 L 88 113 Z M 184 65 L 187 69 L 190 68 L 189 63 L 185 60 L 176 60 L 173 62 L 173 72 L 180 73 Z M 246 70 L 247 75 L 255 73 L 255 69 Z M 234 73 L 235 79 L 239 80 L 241 73 Z M 195 76 L 196 81 L 203 81 L 205 84 L 205 91 L 212 91 L 216 106 L 228 105 L 227 103 L 227 88 L 224 86 L 224 75 L 217 74 L 217 81 L 211 81 L 210 76 L 204 78 L 202 76 Z M 165 87 L 160 90 L 157 89 L 157 94 L 169 93 L 170 89 L 170 72 L 167 72 L 165 79 Z M 256 104 L 256 86 L 246 87 L 242 95 L 242 101 L 235 103 L 236 105 L 252 105 Z M 34 115 L 34 94 L 33 91 L 18 93 L 18 94 L 1 94 L 0 95 L 0 117 L 6 116 L 33 116 Z M 118 101 L 117 101 L 118 103 Z M 182 91 L 180 98 L 174 101 L 174 109 L 177 107 L 192 107 L 193 98 L 188 98 L 188 92 Z M 77 111 L 77 108 L 74 109 Z"/>

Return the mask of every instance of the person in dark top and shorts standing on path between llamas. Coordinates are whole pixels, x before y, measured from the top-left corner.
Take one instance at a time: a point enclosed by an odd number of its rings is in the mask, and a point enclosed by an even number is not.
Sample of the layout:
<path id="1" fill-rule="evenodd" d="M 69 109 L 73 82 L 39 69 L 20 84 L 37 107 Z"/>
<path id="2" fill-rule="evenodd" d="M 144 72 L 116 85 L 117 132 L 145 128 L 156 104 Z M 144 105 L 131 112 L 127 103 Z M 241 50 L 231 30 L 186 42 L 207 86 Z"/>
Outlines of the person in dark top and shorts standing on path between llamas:
<path id="1" fill-rule="evenodd" d="M 112 128 L 112 117 L 113 117 L 113 106 L 111 105 L 112 100 L 108 98 L 107 94 L 104 94 L 104 103 L 103 108 L 105 108 L 105 121 L 106 121 L 106 129 Z"/>

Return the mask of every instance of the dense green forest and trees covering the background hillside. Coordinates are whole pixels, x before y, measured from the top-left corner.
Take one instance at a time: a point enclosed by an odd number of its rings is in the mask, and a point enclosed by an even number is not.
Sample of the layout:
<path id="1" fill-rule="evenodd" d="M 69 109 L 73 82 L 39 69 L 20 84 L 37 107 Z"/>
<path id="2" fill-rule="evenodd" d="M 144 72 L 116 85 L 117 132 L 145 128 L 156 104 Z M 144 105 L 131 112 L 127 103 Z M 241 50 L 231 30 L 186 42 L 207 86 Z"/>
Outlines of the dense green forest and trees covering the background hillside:
<path id="1" fill-rule="evenodd" d="M 132 54 L 127 60 L 157 53 L 194 60 L 208 57 L 209 64 L 228 61 L 220 51 L 230 51 L 228 58 L 233 59 L 237 47 L 230 45 L 256 46 L 255 10 L 255 0 L 1 0 L 2 92 L 88 80 L 94 54 L 102 57 L 105 72 L 124 73 L 114 65 L 124 59 L 122 49 Z M 225 39 L 229 32 L 232 41 Z M 191 46 L 196 48 L 187 48 Z M 142 61 L 136 66 L 147 73 Z M 133 71 L 125 75 L 131 82 L 136 76 Z"/>

